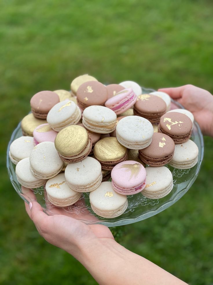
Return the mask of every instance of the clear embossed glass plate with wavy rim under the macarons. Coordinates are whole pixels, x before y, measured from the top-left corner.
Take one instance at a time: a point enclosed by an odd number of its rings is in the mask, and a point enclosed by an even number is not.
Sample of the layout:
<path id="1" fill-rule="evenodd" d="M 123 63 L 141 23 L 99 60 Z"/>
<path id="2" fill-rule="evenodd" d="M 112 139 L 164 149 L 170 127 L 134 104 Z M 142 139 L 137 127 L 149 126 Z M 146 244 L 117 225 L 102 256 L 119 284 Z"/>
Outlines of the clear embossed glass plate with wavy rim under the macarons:
<path id="1" fill-rule="evenodd" d="M 155 90 L 143 88 L 143 93 L 150 93 Z M 183 109 L 179 103 L 172 101 L 171 109 Z M 36 189 L 28 189 L 21 187 L 17 181 L 15 174 L 15 165 L 11 162 L 9 158 L 9 149 L 10 144 L 15 139 L 22 136 L 21 123 L 13 131 L 10 142 L 7 149 L 7 168 L 10 176 L 11 183 L 19 194 L 19 196 L 29 204 L 32 200 L 37 200 L 38 203 L 43 208 L 43 211 L 48 215 L 53 214 L 64 214 L 72 218 L 76 218 L 87 224 L 102 224 L 108 227 L 120 226 L 135 223 L 142 221 L 151 216 L 158 214 L 159 212 L 167 209 L 175 202 L 177 202 L 192 186 L 194 181 L 197 178 L 199 170 L 201 168 L 201 162 L 203 159 L 203 136 L 199 125 L 197 122 L 194 122 L 192 130 L 192 141 L 194 141 L 199 148 L 199 156 L 197 164 L 191 169 L 176 169 L 170 165 L 166 165 L 173 175 L 173 189 L 172 191 L 164 198 L 161 199 L 148 199 L 144 197 L 141 193 L 130 195 L 128 197 L 128 207 L 124 214 L 117 218 L 102 218 L 95 214 L 91 209 L 89 203 L 89 193 L 83 193 L 80 200 L 74 205 L 69 207 L 56 207 L 52 205 L 47 199 L 47 193 L 45 187 L 39 187 Z"/>

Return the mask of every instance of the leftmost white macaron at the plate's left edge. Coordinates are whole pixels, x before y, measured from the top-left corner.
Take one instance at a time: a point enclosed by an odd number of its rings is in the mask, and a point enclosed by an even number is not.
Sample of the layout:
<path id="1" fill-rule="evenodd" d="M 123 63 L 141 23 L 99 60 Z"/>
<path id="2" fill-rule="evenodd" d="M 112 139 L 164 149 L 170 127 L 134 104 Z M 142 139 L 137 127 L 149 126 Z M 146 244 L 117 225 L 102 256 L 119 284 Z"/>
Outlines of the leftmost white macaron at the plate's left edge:
<path id="1" fill-rule="evenodd" d="M 19 137 L 10 145 L 9 157 L 12 163 L 17 164 L 21 159 L 30 157 L 30 153 L 34 148 L 32 137 Z"/>

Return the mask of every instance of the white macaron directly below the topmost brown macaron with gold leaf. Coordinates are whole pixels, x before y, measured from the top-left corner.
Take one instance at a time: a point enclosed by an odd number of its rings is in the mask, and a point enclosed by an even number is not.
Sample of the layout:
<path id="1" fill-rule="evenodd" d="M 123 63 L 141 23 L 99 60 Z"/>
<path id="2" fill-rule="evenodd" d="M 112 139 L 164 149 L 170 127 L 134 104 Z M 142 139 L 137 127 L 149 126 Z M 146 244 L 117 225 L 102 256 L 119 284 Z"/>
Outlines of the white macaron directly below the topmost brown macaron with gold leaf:
<path id="1" fill-rule="evenodd" d="M 109 134 L 115 130 L 117 116 L 104 106 L 90 106 L 83 112 L 82 123 L 88 130 L 99 134 Z"/>

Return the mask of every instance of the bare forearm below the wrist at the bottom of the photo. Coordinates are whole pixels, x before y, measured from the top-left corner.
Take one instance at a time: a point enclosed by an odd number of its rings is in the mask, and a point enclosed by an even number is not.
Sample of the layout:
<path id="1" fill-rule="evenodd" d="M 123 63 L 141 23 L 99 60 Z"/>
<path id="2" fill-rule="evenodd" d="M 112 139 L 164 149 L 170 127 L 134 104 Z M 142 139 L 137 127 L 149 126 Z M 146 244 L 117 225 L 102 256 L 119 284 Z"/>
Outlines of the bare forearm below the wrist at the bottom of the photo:
<path id="1" fill-rule="evenodd" d="M 97 239 L 88 246 L 82 244 L 76 258 L 101 285 L 186 284 L 112 239 Z"/>

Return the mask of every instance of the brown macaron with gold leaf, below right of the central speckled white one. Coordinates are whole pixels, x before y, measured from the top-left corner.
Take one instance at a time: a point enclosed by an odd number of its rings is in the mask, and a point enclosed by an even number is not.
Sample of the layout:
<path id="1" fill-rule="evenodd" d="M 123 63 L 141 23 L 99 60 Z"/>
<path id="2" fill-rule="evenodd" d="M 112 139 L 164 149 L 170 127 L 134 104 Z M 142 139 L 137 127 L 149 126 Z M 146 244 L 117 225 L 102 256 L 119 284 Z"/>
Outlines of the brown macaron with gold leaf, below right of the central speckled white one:
<path id="1" fill-rule="evenodd" d="M 163 166 L 174 155 L 175 143 L 168 135 L 155 132 L 151 144 L 139 150 L 140 159 L 150 166 Z"/>

